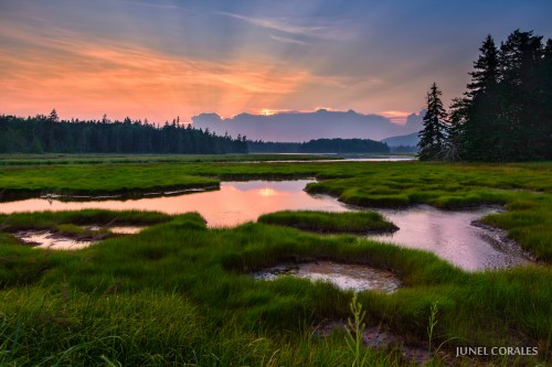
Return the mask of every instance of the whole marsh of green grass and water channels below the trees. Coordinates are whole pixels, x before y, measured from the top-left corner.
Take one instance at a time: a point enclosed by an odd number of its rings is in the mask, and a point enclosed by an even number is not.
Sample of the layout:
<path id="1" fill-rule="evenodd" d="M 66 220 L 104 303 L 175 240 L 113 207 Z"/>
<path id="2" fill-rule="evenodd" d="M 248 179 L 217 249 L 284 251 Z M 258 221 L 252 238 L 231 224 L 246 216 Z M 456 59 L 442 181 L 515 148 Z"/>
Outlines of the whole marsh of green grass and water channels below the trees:
<path id="1" fill-rule="evenodd" d="M 367 312 L 367 333 L 383 325 L 396 341 L 385 348 L 367 343 L 362 350 L 372 364 L 418 363 L 401 345 L 428 344 L 432 310 L 432 344 L 443 344 L 439 353 L 429 347 L 433 363 L 457 346 L 495 345 L 539 349 L 538 356 L 508 359 L 512 365 L 550 361 L 548 163 L 32 160 L 0 172 L 1 332 L 10 342 L 2 344 L 4 364 L 145 365 L 155 364 L 155 355 L 176 364 L 261 365 L 274 358 L 283 365 L 350 365 L 344 331 L 323 337 L 314 331 L 328 321 L 347 324 L 353 292 Z M 127 199 L 67 199 L 128 193 Z M 167 202 L 140 206 L 146 201 Z M 23 203 L 31 206 L 18 209 Z M 287 211 L 329 212 L 330 222 L 326 215 L 309 219 L 328 227 L 338 225 L 340 213 L 378 212 L 399 230 L 337 235 L 257 223 L 274 212 L 289 217 Z M 113 227 L 135 229 L 76 251 L 31 248 L 18 239 L 30 231 L 84 238 Z M 510 252 L 511 244 L 519 248 Z M 291 277 L 251 276 L 280 270 Z M 344 277 L 353 284 L 358 274 L 382 281 L 384 290 L 331 282 Z M 396 287 L 388 292 L 391 284 Z"/>

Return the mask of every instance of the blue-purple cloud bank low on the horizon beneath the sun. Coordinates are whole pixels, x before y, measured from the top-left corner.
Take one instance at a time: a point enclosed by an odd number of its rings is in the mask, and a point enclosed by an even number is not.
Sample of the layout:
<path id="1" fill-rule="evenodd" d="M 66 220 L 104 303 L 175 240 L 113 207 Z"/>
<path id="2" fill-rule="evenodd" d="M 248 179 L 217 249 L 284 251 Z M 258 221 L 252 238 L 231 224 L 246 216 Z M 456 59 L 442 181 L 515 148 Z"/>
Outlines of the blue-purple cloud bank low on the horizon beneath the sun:
<path id="1" fill-rule="evenodd" d="M 217 134 L 246 136 L 248 140 L 304 142 L 312 139 L 372 139 L 407 134 L 422 129 L 422 112 L 412 114 L 406 123 L 393 123 L 380 115 L 362 115 L 353 110 L 315 112 L 279 112 L 275 115 L 240 114 L 223 119 L 216 114 L 192 117 L 194 128 Z"/>

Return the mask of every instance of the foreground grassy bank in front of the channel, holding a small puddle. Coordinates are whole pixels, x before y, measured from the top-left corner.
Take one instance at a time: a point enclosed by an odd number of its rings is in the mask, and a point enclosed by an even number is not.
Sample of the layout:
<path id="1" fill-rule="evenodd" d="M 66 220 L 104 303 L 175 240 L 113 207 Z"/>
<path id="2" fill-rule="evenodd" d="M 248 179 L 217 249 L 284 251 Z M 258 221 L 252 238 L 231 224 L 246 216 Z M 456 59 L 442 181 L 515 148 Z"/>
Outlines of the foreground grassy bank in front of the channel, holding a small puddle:
<path id="1" fill-rule="evenodd" d="M 401 277 L 404 289 L 393 294 L 360 294 L 369 325 L 383 323 L 427 343 L 437 304 L 434 345 L 528 345 L 539 347 L 541 361 L 550 358 L 549 268 L 466 273 L 427 252 L 352 236 L 263 224 L 208 229 L 195 214 L 74 252 L 30 249 L 9 235 L 0 241 L 2 259 L 15 255 L 17 261 L 0 262 L 2 364 L 350 366 L 358 356 L 346 334 L 321 338 L 315 330 L 351 315 L 351 292 L 248 276 L 309 259 L 364 263 Z M 34 271 L 21 282 L 20 269 Z M 361 350 L 372 365 L 406 364 L 395 352 Z"/>

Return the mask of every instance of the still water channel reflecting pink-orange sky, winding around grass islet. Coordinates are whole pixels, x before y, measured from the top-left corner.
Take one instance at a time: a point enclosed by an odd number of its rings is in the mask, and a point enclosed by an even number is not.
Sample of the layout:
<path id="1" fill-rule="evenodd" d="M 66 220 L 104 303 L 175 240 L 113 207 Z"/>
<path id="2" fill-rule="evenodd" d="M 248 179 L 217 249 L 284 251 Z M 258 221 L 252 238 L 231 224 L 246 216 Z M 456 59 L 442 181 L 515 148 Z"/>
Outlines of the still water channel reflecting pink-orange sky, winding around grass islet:
<path id="1" fill-rule="evenodd" d="M 198 212 L 210 227 L 232 227 L 278 211 L 354 209 L 327 195 L 307 194 L 304 188 L 309 182 L 312 181 L 223 182 L 217 191 L 126 201 L 61 202 L 31 198 L 0 203 L 0 213 L 84 208 L 158 211 L 168 214 Z M 474 220 L 497 213 L 499 208 L 452 212 L 422 205 L 401 211 L 376 211 L 400 229 L 392 235 L 370 236 L 372 239 L 428 250 L 466 270 L 508 268 L 530 262 L 516 244 L 505 239 L 502 233 L 473 225 Z"/>

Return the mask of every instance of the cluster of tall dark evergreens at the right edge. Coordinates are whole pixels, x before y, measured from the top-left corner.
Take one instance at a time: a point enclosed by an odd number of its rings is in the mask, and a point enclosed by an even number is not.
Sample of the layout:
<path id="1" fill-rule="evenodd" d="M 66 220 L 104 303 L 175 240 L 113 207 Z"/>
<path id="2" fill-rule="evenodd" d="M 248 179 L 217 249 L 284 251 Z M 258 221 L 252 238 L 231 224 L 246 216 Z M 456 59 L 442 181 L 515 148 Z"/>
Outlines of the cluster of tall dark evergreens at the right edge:
<path id="1" fill-rule="evenodd" d="M 552 160 L 552 40 L 512 32 L 488 35 L 463 97 L 446 111 L 434 83 L 427 93 L 421 160 Z"/>

